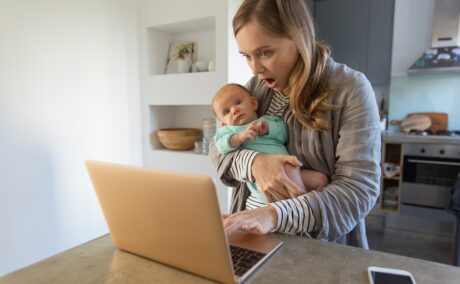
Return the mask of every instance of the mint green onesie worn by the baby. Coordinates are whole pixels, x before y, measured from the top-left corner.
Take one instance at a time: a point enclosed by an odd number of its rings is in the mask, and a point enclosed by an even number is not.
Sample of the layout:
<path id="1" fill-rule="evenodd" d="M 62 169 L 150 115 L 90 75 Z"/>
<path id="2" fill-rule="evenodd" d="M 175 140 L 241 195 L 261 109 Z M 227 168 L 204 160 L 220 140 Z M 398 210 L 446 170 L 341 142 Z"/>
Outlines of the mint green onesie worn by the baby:
<path id="1" fill-rule="evenodd" d="M 255 140 L 248 140 L 240 145 L 245 149 L 254 150 L 263 154 L 289 154 L 285 144 L 288 141 L 288 129 L 284 121 L 278 116 L 264 115 L 259 117 L 255 122 L 265 120 L 268 122 L 268 134 L 257 136 Z M 243 132 L 251 123 L 245 125 L 227 125 L 217 129 L 214 136 L 214 142 L 217 150 L 222 154 L 232 152 L 239 147 L 230 146 L 230 137 Z M 257 200 L 268 204 L 265 195 L 257 189 L 255 183 L 247 183 L 251 195 Z"/>

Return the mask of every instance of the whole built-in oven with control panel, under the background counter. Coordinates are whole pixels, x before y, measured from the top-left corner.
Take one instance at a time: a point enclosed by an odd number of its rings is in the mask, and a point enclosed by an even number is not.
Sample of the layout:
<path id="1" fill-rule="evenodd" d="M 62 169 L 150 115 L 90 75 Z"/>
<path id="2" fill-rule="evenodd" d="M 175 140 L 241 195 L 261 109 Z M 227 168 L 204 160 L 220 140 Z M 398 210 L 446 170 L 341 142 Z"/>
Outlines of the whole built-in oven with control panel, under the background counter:
<path id="1" fill-rule="evenodd" d="M 404 144 L 401 202 L 447 208 L 460 173 L 460 145 Z"/>

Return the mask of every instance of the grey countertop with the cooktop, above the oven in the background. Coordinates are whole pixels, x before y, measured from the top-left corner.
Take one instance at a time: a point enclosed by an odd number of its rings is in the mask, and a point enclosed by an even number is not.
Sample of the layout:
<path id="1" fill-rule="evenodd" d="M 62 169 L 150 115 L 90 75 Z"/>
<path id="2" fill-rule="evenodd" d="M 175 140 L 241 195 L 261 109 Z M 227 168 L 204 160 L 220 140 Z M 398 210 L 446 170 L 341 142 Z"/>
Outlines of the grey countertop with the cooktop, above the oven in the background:
<path id="1" fill-rule="evenodd" d="M 382 139 L 385 143 L 428 143 L 460 145 L 459 136 L 417 136 L 409 135 L 404 132 L 382 131 Z"/>

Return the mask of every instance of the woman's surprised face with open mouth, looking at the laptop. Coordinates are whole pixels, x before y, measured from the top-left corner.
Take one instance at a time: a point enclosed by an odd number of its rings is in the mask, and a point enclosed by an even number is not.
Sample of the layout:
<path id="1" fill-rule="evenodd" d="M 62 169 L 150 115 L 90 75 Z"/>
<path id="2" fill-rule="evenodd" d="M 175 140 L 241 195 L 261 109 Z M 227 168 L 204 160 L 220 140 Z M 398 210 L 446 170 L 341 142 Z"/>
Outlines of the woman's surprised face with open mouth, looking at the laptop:
<path id="1" fill-rule="evenodd" d="M 294 41 L 274 37 L 253 22 L 238 31 L 236 41 L 252 73 L 264 80 L 267 87 L 286 92 L 289 76 L 299 58 Z"/>

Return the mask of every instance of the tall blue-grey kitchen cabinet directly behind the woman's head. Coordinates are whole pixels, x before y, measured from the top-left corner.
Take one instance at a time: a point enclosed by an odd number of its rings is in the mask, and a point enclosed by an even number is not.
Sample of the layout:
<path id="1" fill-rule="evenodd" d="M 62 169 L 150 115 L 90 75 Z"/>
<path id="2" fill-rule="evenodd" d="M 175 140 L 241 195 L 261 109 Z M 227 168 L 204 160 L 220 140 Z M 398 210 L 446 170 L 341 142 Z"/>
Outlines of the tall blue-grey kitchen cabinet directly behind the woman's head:
<path id="1" fill-rule="evenodd" d="M 366 74 L 372 85 L 387 86 L 391 76 L 394 0 L 314 0 L 319 40 L 335 61 Z"/>

